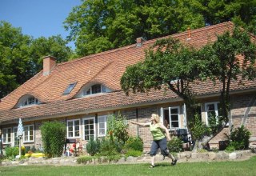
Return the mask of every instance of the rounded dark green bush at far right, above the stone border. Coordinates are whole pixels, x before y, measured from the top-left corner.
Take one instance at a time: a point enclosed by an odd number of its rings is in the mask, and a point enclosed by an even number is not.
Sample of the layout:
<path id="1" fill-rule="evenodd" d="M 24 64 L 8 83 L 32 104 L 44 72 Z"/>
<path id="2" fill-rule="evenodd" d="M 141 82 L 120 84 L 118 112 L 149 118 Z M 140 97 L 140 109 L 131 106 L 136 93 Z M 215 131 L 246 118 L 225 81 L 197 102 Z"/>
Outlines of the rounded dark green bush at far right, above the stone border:
<path id="1" fill-rule="evenodd" d="M 234 146 L 235 150 L 245 150 L 249 148 L 250 131 L 244 126 L 231 130 L 230 136 L 226 135 L 230 141 L 228 147 Z"/>

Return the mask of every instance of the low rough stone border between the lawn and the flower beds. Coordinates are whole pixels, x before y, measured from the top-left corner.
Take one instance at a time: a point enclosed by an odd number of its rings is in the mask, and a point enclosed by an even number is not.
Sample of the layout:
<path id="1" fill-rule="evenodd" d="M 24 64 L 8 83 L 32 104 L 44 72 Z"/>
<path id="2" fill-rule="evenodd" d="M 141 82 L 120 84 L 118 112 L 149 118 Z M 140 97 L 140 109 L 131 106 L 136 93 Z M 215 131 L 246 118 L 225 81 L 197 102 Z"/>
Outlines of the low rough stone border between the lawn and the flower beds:
<path id="1" fill-rule="evenodd" d="M 192 153 L 185 151 L 178 153 L 178 162 L 214 162 L 214 161 L 229 161 L 229 160 L 242 160 L 249 159 L 251 156 L 256 156 L 254 150 L 242 150 L 235 151 L 233 153 L 226 153 L 225 151 L 215 152 L 204 152 L 204 153 Z M 128 157 L 120 158 L 118 161 L 98 161 L 94 159 L 91 162 L 86 162 L 86 165 L 97 165 L 97 164 L 134 164 L 150 162 L 150 155 L 145 154 L 141 157 Z M 156 162 L 171 162 L 170 158 L 163 160 L 162 155 L 156 155 Z M 21 161 L 2 162 L 2 166 L 26 166 L 26 165 L 56 165 L 56 166 L 78 166 L 84 164 L 78 164 L 76 157 L 61 157 L 61 158 L 26 158 Z"/>

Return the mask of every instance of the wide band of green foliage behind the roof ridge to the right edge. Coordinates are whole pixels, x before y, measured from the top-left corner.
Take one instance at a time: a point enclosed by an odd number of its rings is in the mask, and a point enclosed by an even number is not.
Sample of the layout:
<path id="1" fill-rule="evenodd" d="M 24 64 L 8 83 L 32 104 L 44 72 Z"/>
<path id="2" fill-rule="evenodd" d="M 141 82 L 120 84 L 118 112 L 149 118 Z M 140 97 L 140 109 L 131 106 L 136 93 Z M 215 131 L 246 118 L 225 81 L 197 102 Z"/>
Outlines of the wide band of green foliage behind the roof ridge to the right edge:
<path id="1" fill-rule="evenodd" d="M 205 25 L 234 21 L 256 34 L 255 0 L 87 0 L 64 22 L 80 56 Z M 247 27 L 247 26 L 246 26 Z"/>

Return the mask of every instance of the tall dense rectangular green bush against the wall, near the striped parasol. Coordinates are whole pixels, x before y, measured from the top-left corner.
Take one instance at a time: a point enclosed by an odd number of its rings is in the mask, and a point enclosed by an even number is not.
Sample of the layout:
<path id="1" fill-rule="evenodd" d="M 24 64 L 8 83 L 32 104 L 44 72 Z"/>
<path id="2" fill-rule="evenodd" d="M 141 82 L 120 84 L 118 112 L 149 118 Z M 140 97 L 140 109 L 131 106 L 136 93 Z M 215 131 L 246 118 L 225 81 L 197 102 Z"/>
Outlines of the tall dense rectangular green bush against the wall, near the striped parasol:
<path id="1" fill-rule="evenodd" d="M 40 127 L 44 153 L 48 158 L 62 156 L 66 126 L 62 122 L 44 122 Z"/>

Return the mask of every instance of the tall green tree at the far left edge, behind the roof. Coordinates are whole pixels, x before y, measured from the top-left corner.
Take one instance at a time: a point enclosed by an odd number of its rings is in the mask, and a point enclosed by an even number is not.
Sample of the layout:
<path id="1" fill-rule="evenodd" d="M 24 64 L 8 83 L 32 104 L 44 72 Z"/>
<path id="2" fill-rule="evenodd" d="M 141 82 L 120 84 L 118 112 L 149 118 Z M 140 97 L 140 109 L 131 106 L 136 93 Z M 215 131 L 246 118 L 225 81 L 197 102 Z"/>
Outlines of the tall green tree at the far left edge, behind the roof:
<path id="1" fill-rule="evenodd" d="M 0 98 L 9 94 L 27 78 L 30 36 L 8 22 L 0 22 Z"/>

